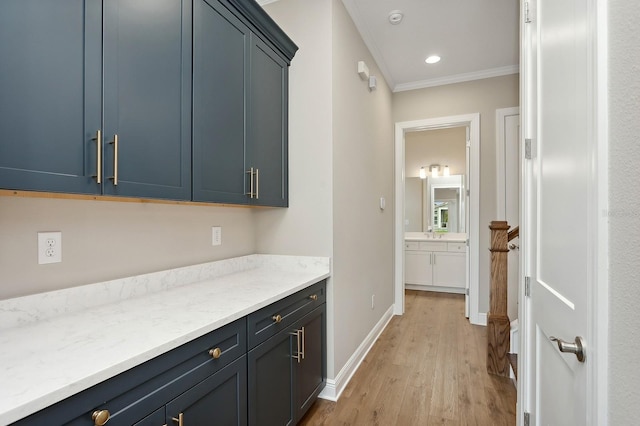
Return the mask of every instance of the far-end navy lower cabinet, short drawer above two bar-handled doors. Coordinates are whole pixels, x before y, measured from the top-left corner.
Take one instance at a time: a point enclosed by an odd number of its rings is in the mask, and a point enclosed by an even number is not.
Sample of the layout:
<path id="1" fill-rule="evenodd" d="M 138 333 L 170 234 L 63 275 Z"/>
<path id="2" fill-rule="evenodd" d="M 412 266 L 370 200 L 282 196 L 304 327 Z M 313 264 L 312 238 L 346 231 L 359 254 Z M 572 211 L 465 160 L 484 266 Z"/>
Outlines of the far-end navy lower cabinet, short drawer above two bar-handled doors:
<path id="1" fill-rule="evenodd" d="M 296 424 L 326 384 L 325 282 L 248 317 L 249 425 Z"/>

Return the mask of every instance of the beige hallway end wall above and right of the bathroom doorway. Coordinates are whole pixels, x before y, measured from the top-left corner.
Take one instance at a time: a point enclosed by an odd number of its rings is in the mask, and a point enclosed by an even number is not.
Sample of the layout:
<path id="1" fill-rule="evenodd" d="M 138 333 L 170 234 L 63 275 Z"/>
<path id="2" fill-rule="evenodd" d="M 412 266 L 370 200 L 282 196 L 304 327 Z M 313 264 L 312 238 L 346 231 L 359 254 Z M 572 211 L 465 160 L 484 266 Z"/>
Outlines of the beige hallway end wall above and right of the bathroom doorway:
<path id="1" fill-rule="evenodd" d="M 515 107 L 517 74 L 393 95 L 394 122 L 480 113 L 480 272 L 479 310 L 489 309 L 489 223 L 496 216 L 495 111 Z"/>

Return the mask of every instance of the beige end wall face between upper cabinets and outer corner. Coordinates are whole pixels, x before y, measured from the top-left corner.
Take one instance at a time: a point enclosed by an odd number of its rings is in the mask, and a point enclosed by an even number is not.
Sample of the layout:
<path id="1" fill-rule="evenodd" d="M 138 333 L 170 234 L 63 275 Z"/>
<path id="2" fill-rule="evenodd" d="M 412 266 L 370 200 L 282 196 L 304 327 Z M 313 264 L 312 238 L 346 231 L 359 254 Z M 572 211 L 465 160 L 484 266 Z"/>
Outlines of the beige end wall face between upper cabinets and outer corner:
<path id="1" fill-rule="evenodd" d="M 257 249 L 331 256 L 331 3 L 281 0 L 265 10 L 299 50 L 289 69 L 289 208 L 257 212 Z"/>

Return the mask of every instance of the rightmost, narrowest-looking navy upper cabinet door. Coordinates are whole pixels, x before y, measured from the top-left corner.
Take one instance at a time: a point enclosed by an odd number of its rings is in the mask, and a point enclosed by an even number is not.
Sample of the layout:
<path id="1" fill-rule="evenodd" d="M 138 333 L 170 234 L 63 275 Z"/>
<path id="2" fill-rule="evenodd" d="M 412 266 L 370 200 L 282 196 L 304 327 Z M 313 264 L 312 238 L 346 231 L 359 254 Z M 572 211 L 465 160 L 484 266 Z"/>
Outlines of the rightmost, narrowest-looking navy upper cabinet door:
<path id="1" fill-rule="evenodd" d="M 287 63 L 253 35 L 247 167 L 256 173 L 255 204 L 288 206 L 287 101 Z"/>

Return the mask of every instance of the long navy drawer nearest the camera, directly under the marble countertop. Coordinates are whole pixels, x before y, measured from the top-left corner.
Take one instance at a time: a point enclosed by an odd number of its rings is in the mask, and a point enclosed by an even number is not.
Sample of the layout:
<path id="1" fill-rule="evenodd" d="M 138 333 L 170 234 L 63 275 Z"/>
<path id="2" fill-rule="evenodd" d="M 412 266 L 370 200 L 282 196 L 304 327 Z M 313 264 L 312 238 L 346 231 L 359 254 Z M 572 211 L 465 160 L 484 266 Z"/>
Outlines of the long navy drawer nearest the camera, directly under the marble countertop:
<path id="1" fill-rule="evenodd" d="M 109 424 L 132 425 L 246 352 L 246 320 L 239 319 L 111 379 L 45 408 L 16 425 L 94 424 L 108 410 Z M 209 351 L 220 349 L 214 359 Z M 78 413 L 84 413 L 78 416 Z"/>

